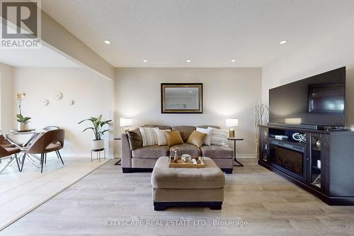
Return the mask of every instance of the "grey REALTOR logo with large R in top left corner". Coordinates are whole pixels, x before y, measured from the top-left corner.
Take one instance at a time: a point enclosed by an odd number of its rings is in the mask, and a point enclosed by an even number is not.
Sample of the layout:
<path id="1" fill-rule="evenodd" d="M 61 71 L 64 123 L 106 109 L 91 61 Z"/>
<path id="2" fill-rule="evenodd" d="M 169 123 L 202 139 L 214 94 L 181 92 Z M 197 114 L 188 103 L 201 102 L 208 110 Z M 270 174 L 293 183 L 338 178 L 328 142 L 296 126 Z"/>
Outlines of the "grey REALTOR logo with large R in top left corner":
<path id="1" fill-rule="evenodd" d="M 1 1 L 1 48 L 40 48 L 40 0 Z"/>

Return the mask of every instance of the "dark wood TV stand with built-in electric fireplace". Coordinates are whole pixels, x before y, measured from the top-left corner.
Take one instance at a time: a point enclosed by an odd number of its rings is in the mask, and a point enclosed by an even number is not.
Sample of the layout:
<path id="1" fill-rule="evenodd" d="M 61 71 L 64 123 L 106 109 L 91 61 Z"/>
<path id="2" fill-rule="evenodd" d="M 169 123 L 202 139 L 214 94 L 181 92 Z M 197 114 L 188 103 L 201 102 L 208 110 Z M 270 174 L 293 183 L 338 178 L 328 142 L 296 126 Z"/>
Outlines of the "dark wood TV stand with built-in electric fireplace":
<path id="1" fill-rule="evenodd" d="M 292 139 L 299 133 L 306 140 Z M 275 139 L 288 136 L 288 140 Z M 258 164 L 329 205 L 354 206 L 354 132 L 259 125 Z"/>

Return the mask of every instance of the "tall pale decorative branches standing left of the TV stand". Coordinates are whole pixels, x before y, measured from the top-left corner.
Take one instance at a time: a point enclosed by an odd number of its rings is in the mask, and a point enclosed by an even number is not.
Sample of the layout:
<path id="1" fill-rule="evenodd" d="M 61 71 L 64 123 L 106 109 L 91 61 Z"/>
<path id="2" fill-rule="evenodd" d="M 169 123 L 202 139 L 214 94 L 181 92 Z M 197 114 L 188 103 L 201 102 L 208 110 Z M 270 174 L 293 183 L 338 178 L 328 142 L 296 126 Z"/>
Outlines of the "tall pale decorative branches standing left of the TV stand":
<path id="1" fill-rule="evenodd" d="M 254 122 L 254 137 L 256 140 L 256 155 L 257 158 L 259 157 L 259 128 L 258 125 L 266 125 L 268 122 L 268 116 L 269 116 L 269 106 L 261 103 L 261 102 L 256 102 L 254 104 L 255 108 L 255 122 Z"/>

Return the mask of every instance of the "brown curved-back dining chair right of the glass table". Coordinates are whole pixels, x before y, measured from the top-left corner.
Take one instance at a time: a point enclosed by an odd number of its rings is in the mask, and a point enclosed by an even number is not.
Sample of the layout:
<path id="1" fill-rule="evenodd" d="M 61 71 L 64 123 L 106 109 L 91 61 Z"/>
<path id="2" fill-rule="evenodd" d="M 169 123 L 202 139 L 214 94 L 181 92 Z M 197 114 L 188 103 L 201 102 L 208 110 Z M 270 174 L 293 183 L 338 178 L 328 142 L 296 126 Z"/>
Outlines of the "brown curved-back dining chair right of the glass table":
<path id="1" fill-rule="evenodd" d="M 64 164 L 62 155 L 59 152 L 59 150 L 64 147 L 64 137 L 65 131 L 62 129 L 50 130 L 40 135 L 40 137 L 38 137 L 38 139 L 35 140 L 35 142 L 33 142 L 33 144 L 30 145 L 27 150 L 24 150 L 25 153 L 22 157 L 21 171 L 23 169 L 26 154 L 40 154 L 40 173 L 43 173 L 45 154 L 47 154 L 48 152 L 55 152 L 58 158 L 62 161 L 62 164 Z"/>

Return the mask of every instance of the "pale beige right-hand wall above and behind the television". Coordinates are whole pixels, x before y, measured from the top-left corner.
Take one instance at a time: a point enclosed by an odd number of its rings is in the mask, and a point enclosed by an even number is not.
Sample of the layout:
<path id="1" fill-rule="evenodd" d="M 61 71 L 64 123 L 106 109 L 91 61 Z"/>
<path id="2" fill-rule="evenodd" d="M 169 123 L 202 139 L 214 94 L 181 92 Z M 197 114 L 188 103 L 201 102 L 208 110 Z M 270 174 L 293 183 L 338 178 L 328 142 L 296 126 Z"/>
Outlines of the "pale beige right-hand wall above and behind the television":
<path id="1" fill-rule="evenodd" d="M 268 103 L 271 88 L 346 66 L 346 124 L 354 129 L 354 31 L 350 30 L 353 26 L 354 17 L 263 67 L 263 101 Z"/>

